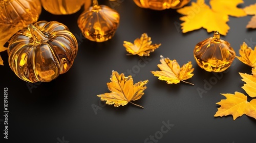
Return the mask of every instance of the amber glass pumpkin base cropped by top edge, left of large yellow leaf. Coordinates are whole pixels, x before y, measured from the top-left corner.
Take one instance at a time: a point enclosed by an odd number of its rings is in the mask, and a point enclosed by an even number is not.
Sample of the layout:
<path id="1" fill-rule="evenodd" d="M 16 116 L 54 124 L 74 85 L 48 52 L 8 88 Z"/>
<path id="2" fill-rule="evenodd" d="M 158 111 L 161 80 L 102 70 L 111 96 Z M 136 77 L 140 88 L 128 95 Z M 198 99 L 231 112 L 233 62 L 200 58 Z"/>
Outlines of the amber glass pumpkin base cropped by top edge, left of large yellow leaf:
<path id="1" fill-rule="evenodd" d="M 153 10 L 179 9 L 190 2 L 190 0 L 133 0 L 141 8 Z"/>

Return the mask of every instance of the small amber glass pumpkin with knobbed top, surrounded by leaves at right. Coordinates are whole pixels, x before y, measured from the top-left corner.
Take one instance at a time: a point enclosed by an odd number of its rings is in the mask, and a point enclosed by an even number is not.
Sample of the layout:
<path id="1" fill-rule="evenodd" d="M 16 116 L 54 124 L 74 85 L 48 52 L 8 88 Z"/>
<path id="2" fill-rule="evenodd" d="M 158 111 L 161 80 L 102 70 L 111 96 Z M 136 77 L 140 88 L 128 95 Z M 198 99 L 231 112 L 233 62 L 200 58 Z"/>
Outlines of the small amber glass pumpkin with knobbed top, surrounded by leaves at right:
<path id="1" fill-rule="evenodd" d="M 229 42 L 220 39 L 220 33 L 199 42 L 194 49 L 197 64 L 206 71 L 222 72 L 232 63 L 236 53 Z"/>

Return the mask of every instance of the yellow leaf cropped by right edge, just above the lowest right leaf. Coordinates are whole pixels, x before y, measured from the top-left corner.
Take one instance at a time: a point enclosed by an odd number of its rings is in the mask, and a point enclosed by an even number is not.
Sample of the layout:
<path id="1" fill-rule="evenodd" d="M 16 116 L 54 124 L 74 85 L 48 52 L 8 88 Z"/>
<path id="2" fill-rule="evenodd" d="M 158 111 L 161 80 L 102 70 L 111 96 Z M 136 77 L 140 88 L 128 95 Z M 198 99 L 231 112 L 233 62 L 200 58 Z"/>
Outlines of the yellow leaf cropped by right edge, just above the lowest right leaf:
<path id="1" fill-rule="evenodd" d="M 252 68 L 252 74 L 243 74 L 239 73 L 240 76 L 243 78 L 242 81 L 244 81 L 246 84 L 242 87 L 245 92 L 252 98 L 256 97 L 256 68 Z"/>

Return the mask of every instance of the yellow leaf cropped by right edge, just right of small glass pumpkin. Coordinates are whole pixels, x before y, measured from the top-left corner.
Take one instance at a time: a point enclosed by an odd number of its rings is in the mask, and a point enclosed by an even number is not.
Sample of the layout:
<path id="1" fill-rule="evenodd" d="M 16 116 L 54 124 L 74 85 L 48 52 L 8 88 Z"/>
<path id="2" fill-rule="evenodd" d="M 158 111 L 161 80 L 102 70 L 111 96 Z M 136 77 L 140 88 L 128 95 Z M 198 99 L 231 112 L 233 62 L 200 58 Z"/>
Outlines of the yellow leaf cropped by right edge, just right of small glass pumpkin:
<path id="1" fill-rule="evenodd" d="M 256 67 L 256 46 L 254 47 L 254 50 L 252 50 L 251 47 L 248 47 L 248 45 L 243 42 L 243 44 L 240 46 L 239 54 L 241 57 L 236 57 L 241 62 L 251 67 Z"/>

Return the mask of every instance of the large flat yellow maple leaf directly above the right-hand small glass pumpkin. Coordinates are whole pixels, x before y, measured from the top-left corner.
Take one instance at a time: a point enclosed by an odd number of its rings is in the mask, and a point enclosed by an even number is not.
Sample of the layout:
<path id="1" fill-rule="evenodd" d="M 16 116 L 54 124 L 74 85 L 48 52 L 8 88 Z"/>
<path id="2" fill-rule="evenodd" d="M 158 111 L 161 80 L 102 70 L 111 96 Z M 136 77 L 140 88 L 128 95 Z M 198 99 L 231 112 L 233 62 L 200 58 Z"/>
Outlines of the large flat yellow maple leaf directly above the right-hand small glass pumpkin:
<path id="1" fill-rule="evenodd" d="M 199 8 L 197 13 L 191 14 L 197 8 Z M 184 21 L 181 23 L 183 33 L 204 28 L 207 32 L 219 31 L 220 34 L 226 35 L 229 30 L 229 26 L 226 23 L 228 15 L 212 11 L 204 3 L 204 0 L 198 0 L 197 3 L 191 2 L 191 6 L 178 9 L 177 12 L 185 15 L 180 17 L 180 20 Z"/>

